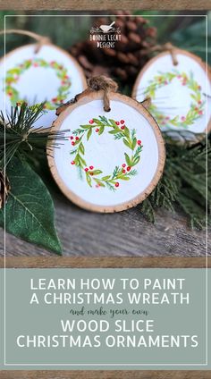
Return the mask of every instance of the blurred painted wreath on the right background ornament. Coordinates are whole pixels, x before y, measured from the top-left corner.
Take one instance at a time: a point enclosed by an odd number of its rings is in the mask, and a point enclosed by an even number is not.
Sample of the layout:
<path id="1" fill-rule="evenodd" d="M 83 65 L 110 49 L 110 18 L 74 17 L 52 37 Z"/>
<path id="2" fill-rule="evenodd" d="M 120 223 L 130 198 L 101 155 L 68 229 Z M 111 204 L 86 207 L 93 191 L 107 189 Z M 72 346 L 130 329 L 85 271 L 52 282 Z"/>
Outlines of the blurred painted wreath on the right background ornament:
<path id="1" fill-rule="evenodd" d="M 202 101 L 201 97 L 201 87 L 198 85 L 197 80 L 194 80 L 192 72 L 190 72 L 190 76 L 188 76 L 186 72 L 180 73 L 176 70 L 165 73 L 158 72 L 158 75 L 156 75 L 153 80 L 149 80 L 149 85 L 148 88 L 145 89 L 144 95 L 146 97 L 151 97 L 152 100 L 155 99 L 156 89 L 168 85 L 173 79 L 179 80 L 182 86 L 187 86 L 187 88 L 190 88 L 191 90 L 190 97 L 192 102 L 188 113 L 181 116 L 176 115 L 171 118 L 160 112 L 157 106 L 153 103 L 149 106 L 149 110 L 161 126 L 187 128 L 201 117 L 205 105 L 205 101 Z"/>

